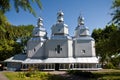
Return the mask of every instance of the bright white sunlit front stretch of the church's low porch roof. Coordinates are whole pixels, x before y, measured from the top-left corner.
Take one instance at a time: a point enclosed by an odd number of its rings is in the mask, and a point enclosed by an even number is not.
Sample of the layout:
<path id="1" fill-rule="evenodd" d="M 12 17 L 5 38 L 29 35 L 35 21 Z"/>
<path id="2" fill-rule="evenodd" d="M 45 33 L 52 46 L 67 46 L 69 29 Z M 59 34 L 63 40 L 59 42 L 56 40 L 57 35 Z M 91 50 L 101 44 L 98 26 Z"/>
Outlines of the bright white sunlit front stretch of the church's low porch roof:
<path id="1" fill-rule="evenodd" d="M 39 64 L 39 63 L 98 63 L 96 57 L 82 58 L 47 58 L 47 59 L 30 59 L 23 61 L 24 64 Z"/>

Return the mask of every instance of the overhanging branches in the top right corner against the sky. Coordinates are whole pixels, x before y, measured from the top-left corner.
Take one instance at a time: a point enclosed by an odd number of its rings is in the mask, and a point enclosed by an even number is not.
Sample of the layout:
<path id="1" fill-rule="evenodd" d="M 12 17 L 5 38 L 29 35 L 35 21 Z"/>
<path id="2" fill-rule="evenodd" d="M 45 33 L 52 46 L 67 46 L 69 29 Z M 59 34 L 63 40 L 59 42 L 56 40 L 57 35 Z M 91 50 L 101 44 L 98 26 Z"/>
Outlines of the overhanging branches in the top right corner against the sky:
<path id="1" fill-rule="evenodd" d="M 112 21 L 120 25 L 120 0 L 114 0 L 112 8 L 114 9 Z"/>

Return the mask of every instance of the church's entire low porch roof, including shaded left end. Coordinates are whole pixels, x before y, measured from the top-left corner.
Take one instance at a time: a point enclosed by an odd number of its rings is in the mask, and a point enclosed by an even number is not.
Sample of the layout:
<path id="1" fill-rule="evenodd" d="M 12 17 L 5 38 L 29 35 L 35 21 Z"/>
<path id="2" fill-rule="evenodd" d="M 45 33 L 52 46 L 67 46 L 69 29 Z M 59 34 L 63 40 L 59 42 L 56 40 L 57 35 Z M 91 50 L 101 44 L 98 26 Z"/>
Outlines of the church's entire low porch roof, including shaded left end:
<path id="1" fill-rule="evenodd" d="M 23 64 L 41 64 L 41 63 L 99 63 L 96 57 L 78 57 L 78 58 L 27 58 L 25 54 L 17 54 L 4 62 L 21 62 Z"/>

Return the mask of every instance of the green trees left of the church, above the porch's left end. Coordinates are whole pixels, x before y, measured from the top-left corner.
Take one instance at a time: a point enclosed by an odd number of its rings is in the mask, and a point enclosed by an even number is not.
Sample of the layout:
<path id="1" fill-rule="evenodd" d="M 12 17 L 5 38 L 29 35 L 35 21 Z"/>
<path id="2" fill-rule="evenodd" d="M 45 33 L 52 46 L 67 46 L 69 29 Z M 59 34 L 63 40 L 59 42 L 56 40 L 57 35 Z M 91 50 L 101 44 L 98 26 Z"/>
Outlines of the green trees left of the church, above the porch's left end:
<path id="1" fill-rule="evenodd" d="M 3 61 L 15 54 L 21 53 L 24 45 L 31 36 L 33 26 L 7 26 L 6 32 L 0 31 L 0 61 Z M 17 43 L 17 39 L 21 43 Z"/>

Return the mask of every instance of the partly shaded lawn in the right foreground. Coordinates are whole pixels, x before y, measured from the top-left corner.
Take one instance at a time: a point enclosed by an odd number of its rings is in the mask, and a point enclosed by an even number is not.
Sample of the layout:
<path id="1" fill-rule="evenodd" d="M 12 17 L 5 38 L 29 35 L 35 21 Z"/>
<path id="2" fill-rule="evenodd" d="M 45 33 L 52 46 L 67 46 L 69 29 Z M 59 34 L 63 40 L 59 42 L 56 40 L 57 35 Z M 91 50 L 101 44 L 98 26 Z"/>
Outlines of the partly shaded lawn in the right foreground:
<path id="1" fill-rule="evenodd" d="M 84 77 L 90 80 L 120 80 L 120 70 L 115 69 L 103 69 L 100 71 L 91 71 L 91 72 L 83 72 L 83 71 L 68 71 L 68 74 L 77 75 L 80 77 Z"/>

